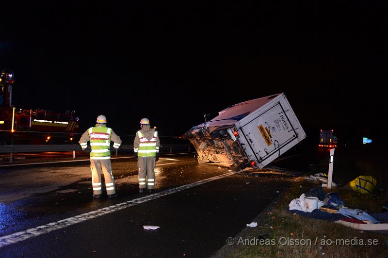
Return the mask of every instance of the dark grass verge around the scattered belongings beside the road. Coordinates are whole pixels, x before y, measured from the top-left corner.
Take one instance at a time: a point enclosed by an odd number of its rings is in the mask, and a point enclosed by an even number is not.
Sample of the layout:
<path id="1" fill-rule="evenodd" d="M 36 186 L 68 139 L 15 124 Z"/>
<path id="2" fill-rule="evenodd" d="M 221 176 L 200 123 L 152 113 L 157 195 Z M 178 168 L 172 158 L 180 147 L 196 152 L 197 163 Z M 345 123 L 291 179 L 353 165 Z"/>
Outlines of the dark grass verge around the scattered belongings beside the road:
<path id="1" fill-rule="evenodd" d="M 295 178 L 291 188 L 253 220 L 257 227 L 244 228 L 234 243 L 226 244 L 215 257 L 388 257 L 387 235 L 305 218 L 288 210 L 292 199 L 316 186 Z M 381 211 L 381 193 L 355 194 L 346 185 L 333 190 L 349 208 Z"/>

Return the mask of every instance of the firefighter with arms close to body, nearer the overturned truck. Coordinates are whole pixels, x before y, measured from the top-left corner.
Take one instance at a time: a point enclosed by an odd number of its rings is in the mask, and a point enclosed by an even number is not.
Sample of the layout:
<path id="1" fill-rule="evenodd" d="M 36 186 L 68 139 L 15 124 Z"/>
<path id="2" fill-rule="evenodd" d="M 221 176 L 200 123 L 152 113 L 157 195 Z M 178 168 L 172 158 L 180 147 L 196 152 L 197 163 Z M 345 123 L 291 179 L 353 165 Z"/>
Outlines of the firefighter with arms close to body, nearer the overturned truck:
<path id="1" fill-rule="evenodd" d="M 140 121 L 140 128 L 133 141 L 139 168 L 139 193 L 144 193 L 146 188 L 152 193 L 155 189 L 155 162 L 159 160 L 160 140 L 158 131 L 151 129 L 147 118 Z"/>

